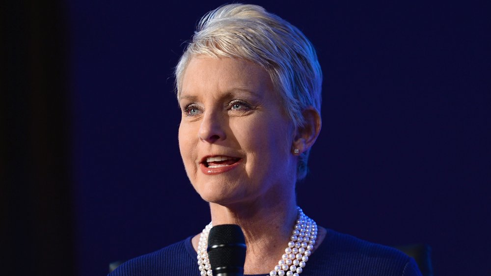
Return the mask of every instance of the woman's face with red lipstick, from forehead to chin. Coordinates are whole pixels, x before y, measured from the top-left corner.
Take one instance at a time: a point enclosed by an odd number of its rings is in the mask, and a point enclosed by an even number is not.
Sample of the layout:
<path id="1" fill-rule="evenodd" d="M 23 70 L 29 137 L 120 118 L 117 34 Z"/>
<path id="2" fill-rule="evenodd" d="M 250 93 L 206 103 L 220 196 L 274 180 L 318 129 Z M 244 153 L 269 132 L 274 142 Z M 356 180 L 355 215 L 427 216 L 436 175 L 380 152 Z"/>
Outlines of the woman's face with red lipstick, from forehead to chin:
<path id="1" fill-rule="evenodd" d="M 262 67 L 242 59 L 192 57 L 179 105 L 181 156 L 204 200 L 271 201 L 293 191 L 293 124 Z"/>

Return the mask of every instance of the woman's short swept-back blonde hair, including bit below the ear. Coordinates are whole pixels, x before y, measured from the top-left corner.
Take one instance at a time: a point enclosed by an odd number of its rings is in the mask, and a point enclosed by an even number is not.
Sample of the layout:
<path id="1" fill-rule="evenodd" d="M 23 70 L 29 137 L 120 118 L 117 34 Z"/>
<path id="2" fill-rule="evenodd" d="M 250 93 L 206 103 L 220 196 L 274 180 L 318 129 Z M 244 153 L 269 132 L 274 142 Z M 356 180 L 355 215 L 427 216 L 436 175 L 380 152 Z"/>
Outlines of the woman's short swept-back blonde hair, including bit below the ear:
<path id="1" fill-rule="evenodd" d="M 302 111 L 321 111 L 322 70 L 312 43 L 295 26 L 263 7 L 228 4 L 200 20 L 176 69 L 179 99 L 182 77 L 194 55 L 243 58 L 262 66 L 278 91 L 294 126 L 305 124 Z M 307 173 L 309 151 L 299 156 L 297 178 Z"/>

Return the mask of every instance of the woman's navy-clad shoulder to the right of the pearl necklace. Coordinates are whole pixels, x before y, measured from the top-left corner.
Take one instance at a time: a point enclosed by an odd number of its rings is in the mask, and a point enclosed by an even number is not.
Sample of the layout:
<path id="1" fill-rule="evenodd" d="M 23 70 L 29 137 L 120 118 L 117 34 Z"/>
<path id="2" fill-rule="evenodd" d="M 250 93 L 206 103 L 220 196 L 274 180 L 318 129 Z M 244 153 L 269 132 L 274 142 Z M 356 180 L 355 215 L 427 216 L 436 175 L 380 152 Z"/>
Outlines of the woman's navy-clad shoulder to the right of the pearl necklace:
<path id="1" fill-rule="evenodd" d="M 412 258 L 398 249 L 327 229 L 310 265 L 335 275 L 420 276 Z"/>

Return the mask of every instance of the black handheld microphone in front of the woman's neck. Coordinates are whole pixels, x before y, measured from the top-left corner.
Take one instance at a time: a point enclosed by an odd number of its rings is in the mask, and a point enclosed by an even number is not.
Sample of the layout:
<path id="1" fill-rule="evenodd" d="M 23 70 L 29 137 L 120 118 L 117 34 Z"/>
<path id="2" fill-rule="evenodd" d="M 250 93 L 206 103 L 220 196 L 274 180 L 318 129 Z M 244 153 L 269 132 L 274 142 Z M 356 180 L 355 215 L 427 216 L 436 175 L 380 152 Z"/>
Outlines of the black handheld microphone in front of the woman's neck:
<path id="1" fill-rule="evenodd" d="M 239 225 L 213 226 L 207 251 L 213 276 L 244 276 L 246 239 Z"/>

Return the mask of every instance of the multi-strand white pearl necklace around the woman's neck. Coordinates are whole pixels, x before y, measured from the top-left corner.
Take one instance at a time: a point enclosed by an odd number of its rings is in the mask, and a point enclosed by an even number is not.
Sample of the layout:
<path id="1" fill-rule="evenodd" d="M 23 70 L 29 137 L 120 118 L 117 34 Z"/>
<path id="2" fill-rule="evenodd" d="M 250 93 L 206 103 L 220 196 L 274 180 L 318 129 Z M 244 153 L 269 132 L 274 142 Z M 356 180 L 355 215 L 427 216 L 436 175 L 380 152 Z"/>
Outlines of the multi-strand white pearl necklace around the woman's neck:
<path id="1" fill-rule="evenodd" d="M 297 207 L 299 217 L 293 228 L 288 247 L 278 261 L 278 265 L 270 272 L 270 276 L 299 276 L 302 273 L 305 263 L 308 261 L 317 238 L 317 224 L 315 221 L 303 214 L 302 209 Z M 208 235 L 213 227 L 212 222 L 206 225 L 199 236 L 198 243 L 198 265 L 201 276 L 213 276 L 213 272 L 208 259 Z"/>

